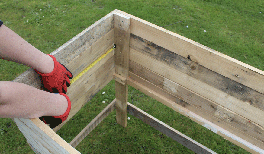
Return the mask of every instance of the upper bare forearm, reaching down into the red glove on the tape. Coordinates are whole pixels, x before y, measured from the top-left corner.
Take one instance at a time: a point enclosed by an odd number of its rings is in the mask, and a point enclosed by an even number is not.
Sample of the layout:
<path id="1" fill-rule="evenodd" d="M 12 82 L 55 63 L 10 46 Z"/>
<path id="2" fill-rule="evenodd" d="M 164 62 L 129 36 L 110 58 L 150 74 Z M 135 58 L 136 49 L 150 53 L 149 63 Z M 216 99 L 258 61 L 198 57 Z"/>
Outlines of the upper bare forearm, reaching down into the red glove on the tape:
<path id="1" fill-rule="evenodd" d="M 50 73 L 54 63 L 50 56 L 36 49 L 5 25 L 0 27 L 0 58 Z"/>

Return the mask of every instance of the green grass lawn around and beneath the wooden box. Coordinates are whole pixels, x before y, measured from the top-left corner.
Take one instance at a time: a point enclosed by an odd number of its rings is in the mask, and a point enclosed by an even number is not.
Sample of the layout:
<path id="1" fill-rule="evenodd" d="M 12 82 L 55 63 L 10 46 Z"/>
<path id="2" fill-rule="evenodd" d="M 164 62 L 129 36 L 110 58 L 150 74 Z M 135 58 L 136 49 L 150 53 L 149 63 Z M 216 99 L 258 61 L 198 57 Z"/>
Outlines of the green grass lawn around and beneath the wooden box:
<path id="1" fill-rule="evenodd" d="M 114 9 L 158 26 L 182 21 L 164 28 L 264 70 L 263 0 L 0 0 L 0 20 L 48 54 Z M 28 69 L 4 60 L 0 64 L 0 80 L 11 81 Z M 114 90 L 112 81 L 57 134 L 70 142 L 114 99 Z M 217 153 L 249 153 L 129 87 L 130 103 L 131 98 L 134 105 Z M 115 111 L 112 112 L 76 149 L 83 154 L 194 153 L 137 118 L 128 117 L 127 127 L 123 128 L 116 124 Z M 0 153 L 33 153 L 8 118 L 0 119 Z"/>

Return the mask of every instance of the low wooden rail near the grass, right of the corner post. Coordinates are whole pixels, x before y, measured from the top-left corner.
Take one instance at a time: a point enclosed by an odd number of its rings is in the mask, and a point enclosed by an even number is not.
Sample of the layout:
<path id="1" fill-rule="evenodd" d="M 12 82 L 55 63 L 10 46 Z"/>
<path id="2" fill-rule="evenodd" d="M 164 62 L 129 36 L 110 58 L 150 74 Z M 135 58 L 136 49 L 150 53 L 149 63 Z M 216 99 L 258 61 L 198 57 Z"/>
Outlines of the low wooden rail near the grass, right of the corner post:
<path id="1" fill-rule="evenodd" d="M 141 109 L 137 108 L 136 106 L 130 103 L 127 103 L 127 112 L 197 154 L 216 154 L 216 152 L 212 151 L 211 149 L 208 149 L 202 144 L 196 142 L 195 140 L 192 140 L 190 137 L 182 134 L 178 130 L 175 130 L 164 122 L 159 121 L 158 119 L 154 118 L 153 116 L 147 114 L 146 112 L 142 111 Z"/>

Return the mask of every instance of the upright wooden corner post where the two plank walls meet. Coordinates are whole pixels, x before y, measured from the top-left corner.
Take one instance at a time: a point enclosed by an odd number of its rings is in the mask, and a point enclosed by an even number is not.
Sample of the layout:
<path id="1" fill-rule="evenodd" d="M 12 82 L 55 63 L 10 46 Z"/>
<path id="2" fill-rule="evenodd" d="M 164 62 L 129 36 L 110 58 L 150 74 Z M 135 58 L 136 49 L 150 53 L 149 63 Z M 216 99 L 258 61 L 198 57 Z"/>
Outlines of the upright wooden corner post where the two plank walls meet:
<path id="1" fill-rule="evenodd" d="M 123 127 L 127 126 L 127 95 L 130 44 L 130 17 L 114 13 L 114 42 L 115 48 L 115 96 L 116 96 L 116 121 Z"/>

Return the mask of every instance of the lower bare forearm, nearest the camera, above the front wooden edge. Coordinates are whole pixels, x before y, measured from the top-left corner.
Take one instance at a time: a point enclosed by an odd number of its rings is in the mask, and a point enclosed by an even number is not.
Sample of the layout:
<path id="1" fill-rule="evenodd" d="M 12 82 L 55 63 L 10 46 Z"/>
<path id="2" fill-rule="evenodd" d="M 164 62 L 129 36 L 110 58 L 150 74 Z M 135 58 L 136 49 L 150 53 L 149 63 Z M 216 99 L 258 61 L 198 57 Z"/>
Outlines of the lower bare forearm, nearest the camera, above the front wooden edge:
<path id="1" fill-rule="evenodd" d="M 0 81 L 0 117 L 38 118 L 59 116 L 68 107 L 67 99 L 23 83 Z"/>

